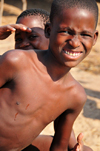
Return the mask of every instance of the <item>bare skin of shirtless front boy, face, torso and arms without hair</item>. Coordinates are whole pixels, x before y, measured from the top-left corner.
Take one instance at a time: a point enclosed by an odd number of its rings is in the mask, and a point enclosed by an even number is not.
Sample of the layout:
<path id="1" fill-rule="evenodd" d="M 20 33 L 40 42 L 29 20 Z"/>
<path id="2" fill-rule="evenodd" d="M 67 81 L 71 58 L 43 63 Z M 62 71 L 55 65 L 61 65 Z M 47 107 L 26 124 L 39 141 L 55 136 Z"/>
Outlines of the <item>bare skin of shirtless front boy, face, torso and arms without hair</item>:
<path id="1" fill-rule="evenodd" d="M 73 123 L 87 99 L 69 71 L 95 44 L 98 33 L 94 27 L 91 12 L 63 10 L 61 19 L 55 17 L 46 26 L 50 38 L 47 51 L 12 50 L 0 57 L 0 150 L 24 149 L 57 117 L 50 151 L 68 150 Z M 85 33 L 84 38 L 85 30 L 91 31 L 92 37 Z M 70 52 L 80 54 L 72 56 Z"/>

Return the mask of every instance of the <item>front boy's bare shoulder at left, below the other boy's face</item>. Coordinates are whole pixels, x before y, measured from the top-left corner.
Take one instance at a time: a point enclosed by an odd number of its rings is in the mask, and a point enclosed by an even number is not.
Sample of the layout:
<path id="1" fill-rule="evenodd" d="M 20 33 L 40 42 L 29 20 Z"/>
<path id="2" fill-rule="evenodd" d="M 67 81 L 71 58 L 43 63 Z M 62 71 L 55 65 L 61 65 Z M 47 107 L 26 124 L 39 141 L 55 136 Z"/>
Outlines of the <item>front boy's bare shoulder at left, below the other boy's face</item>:
<path id="1" fill-rule="evenodd" d="M 34 54 L 34 51 L 9 50 L 0 56 L 0 87 L 29 69 L 32 52 Z"/>

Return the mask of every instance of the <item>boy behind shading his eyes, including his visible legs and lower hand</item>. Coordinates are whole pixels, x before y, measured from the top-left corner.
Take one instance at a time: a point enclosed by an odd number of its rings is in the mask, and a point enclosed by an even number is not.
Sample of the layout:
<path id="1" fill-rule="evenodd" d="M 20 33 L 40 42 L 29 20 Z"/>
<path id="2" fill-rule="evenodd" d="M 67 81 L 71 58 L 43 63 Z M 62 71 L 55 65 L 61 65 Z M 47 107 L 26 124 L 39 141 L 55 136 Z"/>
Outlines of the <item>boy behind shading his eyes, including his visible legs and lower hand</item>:
<path id="1" fill-rule="evenodd" d="M 49 13 L 43 9 L 27 9 L 17 17 L 17 24 L 9 24 L 0 27 L 0 39 L 7 38 L 12 31 L 15 32 L 15 48 L 17 49 L 41 49 L 46 50 L 49 45 L 49 39 L 45 37 L 45 24 L 49 23 Z M 53 137 L 48 135 L 40 135 L 32 145 L 37 146 L 41 151 L 48 151 Z M 88 151 L 88 147 L 84 146 L 81 139 L 81 134 L 78 136 L 78 143 L 81 144 L 81 150 Z M 81 143 L 80 143 L 81 142 Z M 77 143 L 75 135 L 72 132 L 69 140 L 69 150 L 74 148 Z M 25 150 L 33 149 L 30 145 Z"/>

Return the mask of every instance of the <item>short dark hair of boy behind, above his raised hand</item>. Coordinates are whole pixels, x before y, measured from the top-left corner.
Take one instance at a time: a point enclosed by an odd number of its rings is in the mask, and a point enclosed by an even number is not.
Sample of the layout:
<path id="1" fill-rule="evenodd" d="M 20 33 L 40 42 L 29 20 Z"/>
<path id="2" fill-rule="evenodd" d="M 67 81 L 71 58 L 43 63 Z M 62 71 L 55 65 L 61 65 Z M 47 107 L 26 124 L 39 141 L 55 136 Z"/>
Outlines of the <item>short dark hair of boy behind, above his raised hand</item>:
<path id="1" fill-rule="evenodd" d="M 39 9 L 39 8 L 31 8 L 31 9 L 27 9 L 27 10 L 23 11 L 17 17 L 17 21 L 18 21 L 19 18 L 24 18 L 24 17 L 32 16 L 32 15 L 33 16 L 40 16 L 42 21 L 43 21 L 44 26 L 45 26 L 46 23 L 50 22 L 50 14 L 49 14 L 49 12 L 47 12 L 44 9 Z"/>

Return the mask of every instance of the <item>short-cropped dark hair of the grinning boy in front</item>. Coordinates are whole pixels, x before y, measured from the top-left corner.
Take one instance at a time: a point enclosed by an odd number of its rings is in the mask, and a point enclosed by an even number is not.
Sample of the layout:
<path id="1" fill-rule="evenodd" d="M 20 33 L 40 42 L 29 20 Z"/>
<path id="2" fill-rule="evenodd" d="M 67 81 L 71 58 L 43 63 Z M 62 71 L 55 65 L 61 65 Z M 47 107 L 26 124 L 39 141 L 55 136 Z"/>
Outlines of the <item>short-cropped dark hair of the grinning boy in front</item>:
<path id="1" fill-rule="evenodd" d="M 53 22 L 53 18 L 64 10 L 64 8 L 83 8 L 87 9 L 94 14 L 96 25 L 98 22 L 98 6 L 95 0 L 53 0 L 50 12 L 50 21 Z M 75 12 L 73 12 L 75 13 Z"/>

